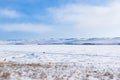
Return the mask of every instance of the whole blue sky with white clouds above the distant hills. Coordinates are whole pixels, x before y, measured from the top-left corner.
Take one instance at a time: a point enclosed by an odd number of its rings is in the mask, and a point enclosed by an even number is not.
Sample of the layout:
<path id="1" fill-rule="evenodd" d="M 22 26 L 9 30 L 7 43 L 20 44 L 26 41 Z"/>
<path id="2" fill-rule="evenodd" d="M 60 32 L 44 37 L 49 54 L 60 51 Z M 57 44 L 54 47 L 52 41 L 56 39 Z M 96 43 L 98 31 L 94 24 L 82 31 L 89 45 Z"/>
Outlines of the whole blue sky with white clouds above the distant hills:
<path id="1" fill-rule="evenodd" d="M 0 39 L 120 37 L 120 0 L 0 0 Z"/>

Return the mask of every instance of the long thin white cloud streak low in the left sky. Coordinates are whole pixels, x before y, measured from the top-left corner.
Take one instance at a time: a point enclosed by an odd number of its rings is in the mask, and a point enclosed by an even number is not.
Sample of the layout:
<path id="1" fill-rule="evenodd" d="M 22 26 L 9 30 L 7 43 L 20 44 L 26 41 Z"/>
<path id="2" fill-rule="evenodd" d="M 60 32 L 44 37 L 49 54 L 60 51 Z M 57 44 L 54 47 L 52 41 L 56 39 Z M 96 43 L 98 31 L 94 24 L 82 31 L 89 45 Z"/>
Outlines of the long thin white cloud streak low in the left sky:
<path id="1" fill-rule="evenodd" d="M 0 27 L 1 30 L 12 32 L 22 31 L 31 33 L 46 33 L 53 31 L 51 26 L 41 24 L 4 24 Z"/>

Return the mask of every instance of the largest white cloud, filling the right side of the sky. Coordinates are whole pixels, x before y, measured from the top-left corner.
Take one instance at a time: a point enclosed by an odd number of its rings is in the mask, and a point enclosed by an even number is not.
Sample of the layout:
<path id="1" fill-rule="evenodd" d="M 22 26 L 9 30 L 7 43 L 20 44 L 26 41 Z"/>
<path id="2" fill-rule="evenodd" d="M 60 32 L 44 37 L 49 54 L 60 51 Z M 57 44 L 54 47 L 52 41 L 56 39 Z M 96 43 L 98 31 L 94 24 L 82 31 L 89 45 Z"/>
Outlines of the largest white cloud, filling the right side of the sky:
<path id="1" fill-rule="evenodd" d="M 71 24 L 81 32 L 88 32 L 86 33 L 88 35 L 115 36 L 120 34 L 119 0 L 113 0 L 101 6 L 75 3 L 48 10 L 56 22 Z"/>

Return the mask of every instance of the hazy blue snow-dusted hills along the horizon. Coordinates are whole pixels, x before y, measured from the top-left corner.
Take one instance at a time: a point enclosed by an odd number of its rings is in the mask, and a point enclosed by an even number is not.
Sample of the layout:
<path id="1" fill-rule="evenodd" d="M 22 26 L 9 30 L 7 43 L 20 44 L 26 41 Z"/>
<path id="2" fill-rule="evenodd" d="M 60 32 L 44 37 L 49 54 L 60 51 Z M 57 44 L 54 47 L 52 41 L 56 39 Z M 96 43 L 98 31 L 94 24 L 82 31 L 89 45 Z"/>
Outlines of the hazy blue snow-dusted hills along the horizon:
<path id="1" fill-rule="evenodd" d="M 40 40 L 0 40 L 0 45 L 120 45 L 120 37 L 114 38 L 61 38 Z"/>

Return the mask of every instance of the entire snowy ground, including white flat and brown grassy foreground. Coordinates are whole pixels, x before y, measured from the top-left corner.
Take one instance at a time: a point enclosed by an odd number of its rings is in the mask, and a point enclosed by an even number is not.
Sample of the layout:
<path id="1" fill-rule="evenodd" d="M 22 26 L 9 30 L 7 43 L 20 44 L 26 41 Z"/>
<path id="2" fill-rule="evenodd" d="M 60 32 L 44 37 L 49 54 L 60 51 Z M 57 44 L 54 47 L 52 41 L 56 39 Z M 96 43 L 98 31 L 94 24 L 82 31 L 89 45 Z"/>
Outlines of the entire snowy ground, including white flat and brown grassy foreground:
<path id="1" fill-rule="evenodd" d="M 0 80 L 120 80 L 120 46 L 1 45 Z"/>

